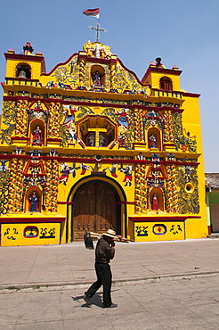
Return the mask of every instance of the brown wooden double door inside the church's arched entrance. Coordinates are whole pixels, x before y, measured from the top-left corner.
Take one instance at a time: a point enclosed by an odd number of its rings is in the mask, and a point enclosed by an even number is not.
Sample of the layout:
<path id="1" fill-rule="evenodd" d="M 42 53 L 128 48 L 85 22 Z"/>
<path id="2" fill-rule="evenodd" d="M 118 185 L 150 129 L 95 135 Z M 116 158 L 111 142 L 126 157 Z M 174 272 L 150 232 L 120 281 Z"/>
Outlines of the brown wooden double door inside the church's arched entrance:
<path id="1" fill-rule="evenodd" d="M 73 241 L 82 241 L 85 231 L 104 233 L 118 230 L 118 198 L 110 186 L 92 182 L 77 190 L 74 197 Z"/>

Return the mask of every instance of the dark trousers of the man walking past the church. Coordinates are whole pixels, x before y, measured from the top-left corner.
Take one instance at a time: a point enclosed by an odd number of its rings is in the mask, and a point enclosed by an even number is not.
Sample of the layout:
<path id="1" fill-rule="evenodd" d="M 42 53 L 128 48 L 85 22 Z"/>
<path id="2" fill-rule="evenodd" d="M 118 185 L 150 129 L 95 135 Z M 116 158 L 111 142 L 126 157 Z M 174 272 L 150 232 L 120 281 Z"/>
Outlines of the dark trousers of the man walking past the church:
<path id="1" fill-rule="evenodd" d="M 111 301 L 111 285 L 112 285 L 112 273 L 110 265 L 107 263 L 95 262 L 95 271 L 97 276 L 97 281 L 90 286 L 90 288 L 85 293 L 89 298 L 93 297 L 93 294 L 100 289 L 103 285 L 103 305 L 110 305 Z"/>

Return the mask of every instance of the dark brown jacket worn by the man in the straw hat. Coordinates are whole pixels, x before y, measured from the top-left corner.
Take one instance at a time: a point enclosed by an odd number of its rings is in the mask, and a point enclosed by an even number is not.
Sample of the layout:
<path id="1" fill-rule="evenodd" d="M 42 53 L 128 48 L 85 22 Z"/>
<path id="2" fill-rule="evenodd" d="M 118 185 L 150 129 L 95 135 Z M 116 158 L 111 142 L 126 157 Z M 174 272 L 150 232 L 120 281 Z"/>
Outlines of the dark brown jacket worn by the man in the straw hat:
<path id="1" fill-rule="evenodd" d="M 101 263 L 110 263 L 110 259 L 113 259 L 115 255 L 114 247 L 103 238 L 97 242 L 95 250 L 95 261 Z"/>

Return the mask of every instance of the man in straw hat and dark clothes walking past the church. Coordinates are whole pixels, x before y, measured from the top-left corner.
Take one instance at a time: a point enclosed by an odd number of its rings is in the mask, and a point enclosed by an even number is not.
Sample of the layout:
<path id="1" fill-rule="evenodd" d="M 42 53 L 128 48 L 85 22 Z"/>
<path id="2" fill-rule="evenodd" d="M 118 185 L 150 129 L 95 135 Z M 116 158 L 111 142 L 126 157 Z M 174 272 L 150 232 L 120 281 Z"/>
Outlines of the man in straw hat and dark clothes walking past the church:
<path id="1" fill-rule="evenodd" d="M 116 232 L 108 229 L 107 233 L 96 244 L 95 249 L 95 271 L 97 280 L 91 285 L 84 295 L 84 300 L 88 307 L 91 307 L 91 298 L 93 294 L 103 285 L 103 308 L 114 308 L 118 305 L 111 301 L 112 273 L 110 270 L 110 260 L 115 255 L 115 243 L 113 239 Z"/>

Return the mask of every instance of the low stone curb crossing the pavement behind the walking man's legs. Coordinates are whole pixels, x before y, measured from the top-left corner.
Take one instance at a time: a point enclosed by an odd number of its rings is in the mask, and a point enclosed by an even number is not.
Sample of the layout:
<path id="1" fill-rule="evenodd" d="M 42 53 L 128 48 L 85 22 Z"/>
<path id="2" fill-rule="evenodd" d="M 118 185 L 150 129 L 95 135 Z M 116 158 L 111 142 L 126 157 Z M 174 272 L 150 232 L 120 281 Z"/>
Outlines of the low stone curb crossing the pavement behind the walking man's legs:
<path id="1" fill-rule="evenodd" d="M 176 281 L 183 279 L 194 279 L 199 277 L 212 277 L 219 276 L 219 271 L 206 271 L 206 272 L 191 272 L 182 274 L 167 274 L 158 276 L 145 276 L 145 277 L 134 277 L 134 278 L 121 278 L 112 281 L 113 286 L 122 285 L 139 285 L 141 283 L 153 283 L 159 281 Z M 20 292 L 20 290 L 25 291 L 59 291 L 59 290 L 69 290 L 83 288 L 87 285 L 92 285 L 93 281 L 83 281 L 83 282 L 56 282 L 56 283 L 27 283 L 18 285 L 0 285 L 0 294 L 3 293 L 14 293 Z"/>

